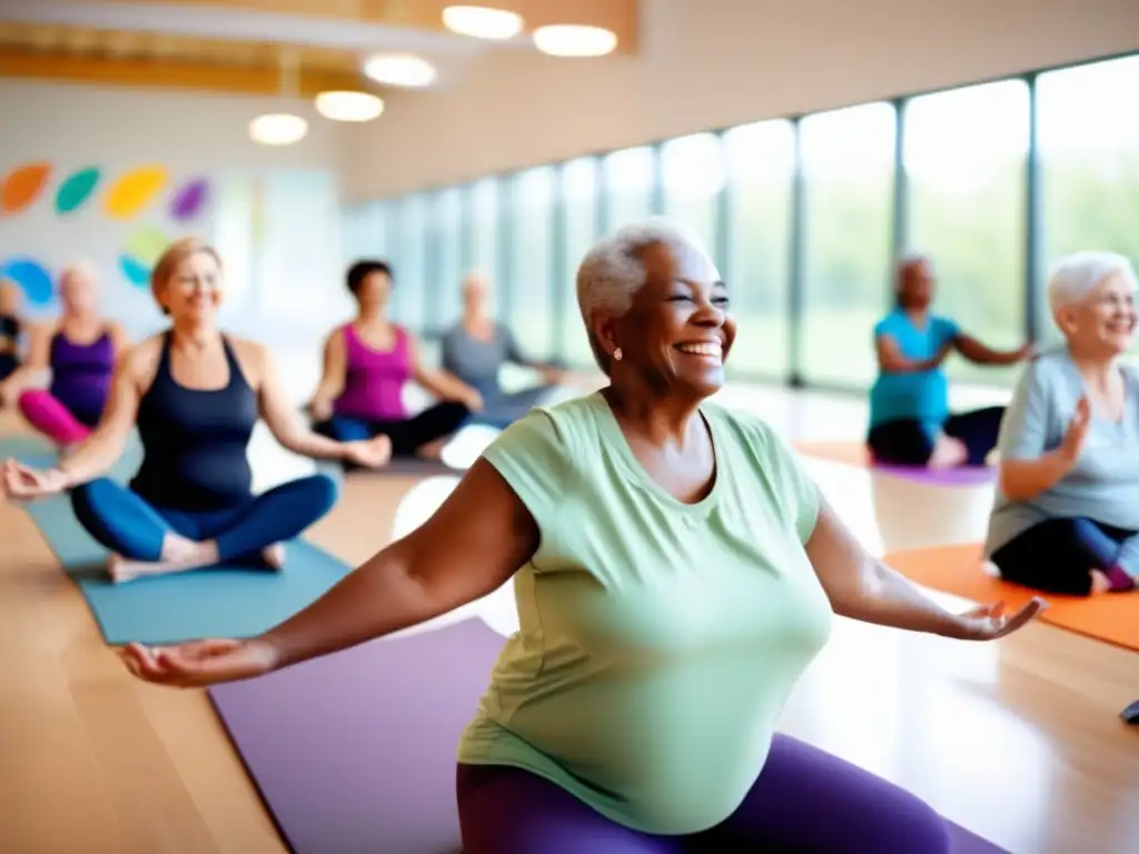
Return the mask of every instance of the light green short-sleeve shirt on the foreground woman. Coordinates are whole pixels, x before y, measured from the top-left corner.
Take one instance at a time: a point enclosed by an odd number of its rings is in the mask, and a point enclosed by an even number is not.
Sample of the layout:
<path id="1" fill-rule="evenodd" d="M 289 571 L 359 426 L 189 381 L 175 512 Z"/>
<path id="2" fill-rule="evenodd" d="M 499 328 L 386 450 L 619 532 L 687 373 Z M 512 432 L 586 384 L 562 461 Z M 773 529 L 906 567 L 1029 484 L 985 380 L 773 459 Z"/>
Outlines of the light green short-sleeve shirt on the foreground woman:
<path id="1" fill-rule="evenodd" d="M 486 450 L 541 543 L 460 762 L 525 769 L 650 834 L 743 802 L 830 632 L 803 548 L 820 495 L 765 424 L 702 412 L 718 471 L 696 504 L 649 478 L 600 394 L 535 409 Z"/>

